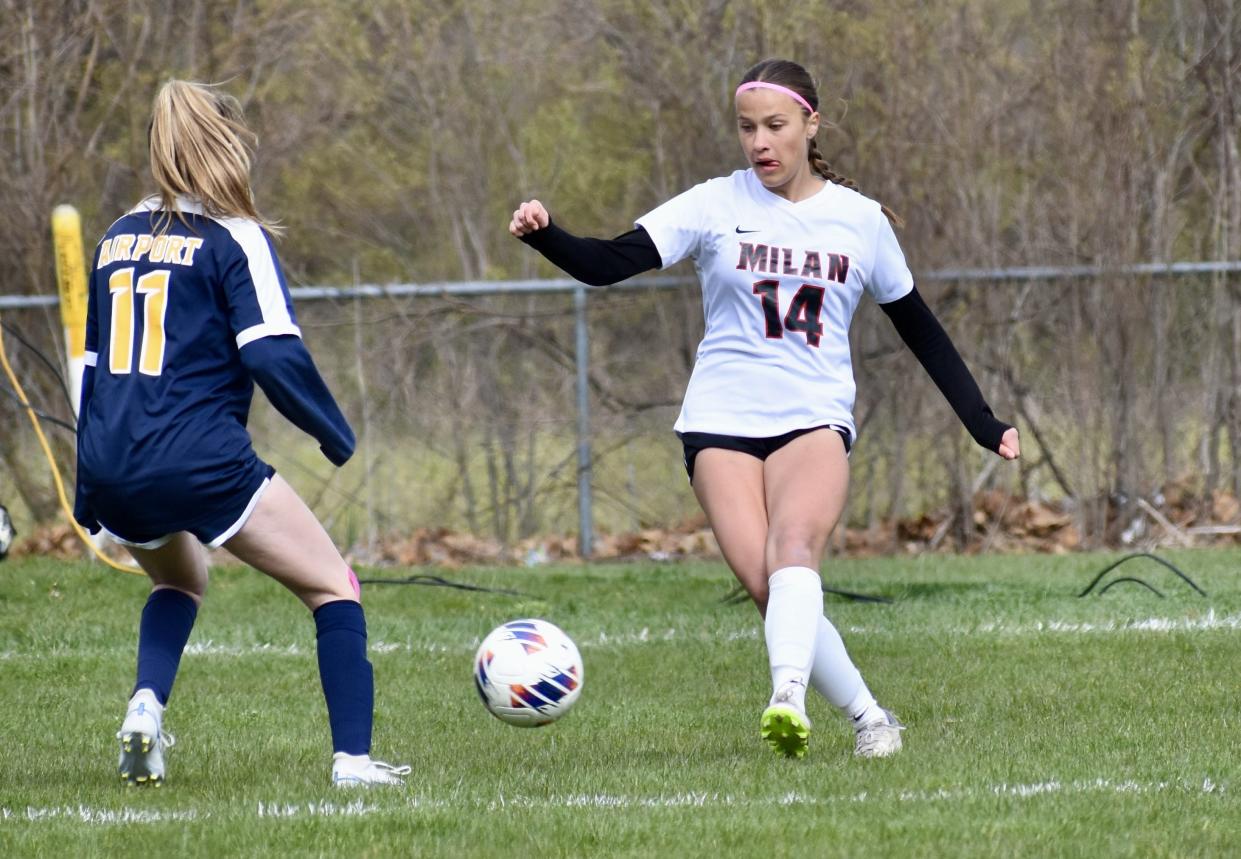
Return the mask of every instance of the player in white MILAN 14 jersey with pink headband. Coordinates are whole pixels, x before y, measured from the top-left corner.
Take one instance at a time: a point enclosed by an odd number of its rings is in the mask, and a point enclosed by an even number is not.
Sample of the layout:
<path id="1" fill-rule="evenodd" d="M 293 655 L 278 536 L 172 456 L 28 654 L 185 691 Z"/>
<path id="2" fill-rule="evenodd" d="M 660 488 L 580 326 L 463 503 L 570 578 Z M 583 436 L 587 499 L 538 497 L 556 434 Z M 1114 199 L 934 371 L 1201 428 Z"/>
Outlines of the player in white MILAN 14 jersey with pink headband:
<path id="1" fill-rule="evenodd" d="M 1018 432 L 992 415 L 915 289 L 891 215 L 820 158 L 807 71 L 766 60 L 735 98 L 750 169 L 691 187 L 614 240 L 570 235 L 537 200 L 514 211 L 509 232 L 594 286 L 695 261 L 706 333 L 675 428 L 725 560 L 766 618 L 773 694 L 761 735 L 777 752 L 805 753 L 809 684 L 849 717 L 854 752 L 882 757 L 900 750 L 903 725 L 875 701 L 824 617 L 819 580 L 849 483 L 848 331 L 862 293 L 979 444 L 1015 459 Z"/>

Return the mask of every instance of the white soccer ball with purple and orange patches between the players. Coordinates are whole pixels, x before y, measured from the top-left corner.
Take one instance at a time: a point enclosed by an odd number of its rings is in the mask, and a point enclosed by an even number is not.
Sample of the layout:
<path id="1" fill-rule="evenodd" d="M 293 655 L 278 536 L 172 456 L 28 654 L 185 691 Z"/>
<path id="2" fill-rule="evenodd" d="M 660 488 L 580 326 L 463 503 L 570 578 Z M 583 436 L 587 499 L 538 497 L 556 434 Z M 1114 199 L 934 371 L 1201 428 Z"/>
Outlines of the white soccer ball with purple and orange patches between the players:
<path id="1" fill-rule="evenodd" d="M 556 721 L 582 694 L 583 667 L 573 639 L 547 621 L 496 627 L 474 657 L 474 685 L 500 721 L 534 727 Z"/>

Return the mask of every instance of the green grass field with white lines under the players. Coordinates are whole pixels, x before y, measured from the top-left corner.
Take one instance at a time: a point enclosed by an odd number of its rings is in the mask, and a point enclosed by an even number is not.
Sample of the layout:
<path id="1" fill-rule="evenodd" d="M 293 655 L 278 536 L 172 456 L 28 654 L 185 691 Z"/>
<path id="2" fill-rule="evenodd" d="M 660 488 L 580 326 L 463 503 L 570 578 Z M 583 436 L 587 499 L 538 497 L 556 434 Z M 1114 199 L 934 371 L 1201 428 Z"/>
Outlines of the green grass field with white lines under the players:
<path id="1" fill-rule="evenodd" d="M 405 789 L 329 787 L 314 629 L 262 576 L 216 569 L 165 727 L 160 789 L 122 786 L 115 741 L 145 582 L 0 565 L 0 855 L 1196 857 L 1241 854 L 1241 552 L 833 562 L 828 600 L 905 751 L 858 761 L 815 696 L 810 753 L 758 740 L 757 613 L 722 565 L 464 570 L 527 597 L 369 586 L 375 753 Z M 360 571 L 401 576 L 410 571 Z M 489 716 L 470 657 L 546 617 L 578 642 L 561 722 Z"/>

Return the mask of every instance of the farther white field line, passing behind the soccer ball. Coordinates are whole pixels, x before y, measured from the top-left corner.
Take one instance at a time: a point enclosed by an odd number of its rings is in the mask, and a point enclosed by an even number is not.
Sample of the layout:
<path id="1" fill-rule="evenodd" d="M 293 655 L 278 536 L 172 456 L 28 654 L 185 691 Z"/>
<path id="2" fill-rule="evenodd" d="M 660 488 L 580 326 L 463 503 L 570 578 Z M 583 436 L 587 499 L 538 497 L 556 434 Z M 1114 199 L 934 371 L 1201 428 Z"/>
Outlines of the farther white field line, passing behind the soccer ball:
<path id="1" fill-rule="evenodd" d="M 1134 633 L 1178 633 L 1178 632 L 1231 632 L 1241 631 L 1241 614 L 1219 616 L 1215 609 L 1207 609 L 1205 614 L 1195 617 L 1148 617 L 1137 621 L 987 621 L 968 627 L 898 627 L 898 626 L 853 626 L 845 627 L 844 632 L 854 636 L 947 636 L 947 637 L 1023 637 L 1046 634 L 1077 634 L 1077 636 L 1112 636 Z M 580 636 L 575 641 L 583 649 L 619 649 L 627 647 L 639 647 L 643 644 L 655 644 L 660 642 L 736 642 L 758 641 L 762 638 L 762 628 L 757 624 L 745 629 L 730 629 L 711 632 L 707 629 L 642 629 L 627 632 L 598 632 L 593 636 Z M 213 639 L 192 642 L 185 648 L 187 657 L 303 657 L 314 653 L 311 638 L 308 636 L 304 643 L 288 644 L 225 644 Z M 369 650 L 371 655 L 386 655 L 390 653 L 416 653 L 416 654 L 457 654 L 473 653 L 480 638 L 472 641 L 433 642 L 429 639 L 385 642 L 372 641 Z M 50 657 L 89 657 L 89 655 L 120 655 L 132 654 L 132 647 L 114 649 L 72 649 L 52 648 L 51 650 L 2 650 L 0 662 L 14 659 L 47 659 Z"/>

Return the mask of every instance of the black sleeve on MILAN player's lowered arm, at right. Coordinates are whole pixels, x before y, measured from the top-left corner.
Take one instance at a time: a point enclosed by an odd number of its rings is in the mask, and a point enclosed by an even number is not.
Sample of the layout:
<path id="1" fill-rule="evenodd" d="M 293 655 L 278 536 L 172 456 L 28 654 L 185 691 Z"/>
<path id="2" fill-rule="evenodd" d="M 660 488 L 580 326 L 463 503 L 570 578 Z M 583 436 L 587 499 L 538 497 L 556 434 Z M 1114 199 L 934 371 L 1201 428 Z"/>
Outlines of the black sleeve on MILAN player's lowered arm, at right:
<path id="1" fill-rule="evenodd" d="M 999 451 L 1000 438 L 1011 427 L 992 413 L 969 367 L 961 360 L 948 333 L 922 300 L 917 287 L 903 298 L 879 307 L 892 320 L 905 345 L 926 369 L 974 441 L 988 451 Z"/>

